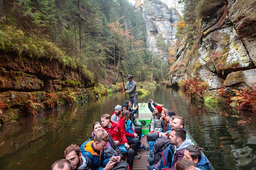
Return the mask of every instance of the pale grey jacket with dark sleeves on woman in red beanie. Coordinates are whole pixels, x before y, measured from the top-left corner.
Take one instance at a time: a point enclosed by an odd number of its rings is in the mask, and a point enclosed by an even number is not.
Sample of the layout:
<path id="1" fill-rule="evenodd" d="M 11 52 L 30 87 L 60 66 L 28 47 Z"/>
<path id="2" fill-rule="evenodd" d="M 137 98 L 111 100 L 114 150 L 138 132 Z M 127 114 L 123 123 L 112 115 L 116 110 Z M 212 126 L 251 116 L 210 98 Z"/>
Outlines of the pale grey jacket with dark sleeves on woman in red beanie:
<path id="1" fill-rule="evenodd" d="M 156 107 L 157 104 L 153 103 L 153 106 Z M 151 103 L 148 103 L 148 109 L 153 113 L 151 118 L 150 132 L 151 131 L 160 131 L 161 130 L 161 113 L 154 113 L 155 109 L 151 106 Z"/>

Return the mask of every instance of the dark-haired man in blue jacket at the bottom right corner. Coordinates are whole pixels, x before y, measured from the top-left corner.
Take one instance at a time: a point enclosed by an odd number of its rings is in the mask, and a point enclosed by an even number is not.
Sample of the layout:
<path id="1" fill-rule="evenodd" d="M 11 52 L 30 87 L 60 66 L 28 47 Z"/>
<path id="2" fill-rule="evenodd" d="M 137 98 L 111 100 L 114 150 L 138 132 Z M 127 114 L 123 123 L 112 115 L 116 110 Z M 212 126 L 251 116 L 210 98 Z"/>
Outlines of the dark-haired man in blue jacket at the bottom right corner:
<path id="1" fill-rule="evenodd" d="M 184 157 L 194 163 L 195 167 L 201 170 L 210 170 L 209 161 L 201 154 L 200 148 L 196 145 L 189 145 L 185 149 Z"/>

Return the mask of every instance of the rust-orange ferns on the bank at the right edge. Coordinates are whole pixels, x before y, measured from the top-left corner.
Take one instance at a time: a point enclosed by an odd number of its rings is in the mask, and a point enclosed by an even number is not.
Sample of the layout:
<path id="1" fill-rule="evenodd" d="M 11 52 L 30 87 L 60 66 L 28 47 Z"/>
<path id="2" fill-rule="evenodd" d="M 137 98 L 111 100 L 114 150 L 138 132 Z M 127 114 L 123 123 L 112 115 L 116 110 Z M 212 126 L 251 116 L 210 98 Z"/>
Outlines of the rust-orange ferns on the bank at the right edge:
<path id="1" fill-rule="evenodd" d="M 236 104 L 238 110 L 249 110 L 256 112 L 256 83 L 254 88 L 245 87 L 241 90 L 233 90 L 236 96 L 230 100 Z"/>

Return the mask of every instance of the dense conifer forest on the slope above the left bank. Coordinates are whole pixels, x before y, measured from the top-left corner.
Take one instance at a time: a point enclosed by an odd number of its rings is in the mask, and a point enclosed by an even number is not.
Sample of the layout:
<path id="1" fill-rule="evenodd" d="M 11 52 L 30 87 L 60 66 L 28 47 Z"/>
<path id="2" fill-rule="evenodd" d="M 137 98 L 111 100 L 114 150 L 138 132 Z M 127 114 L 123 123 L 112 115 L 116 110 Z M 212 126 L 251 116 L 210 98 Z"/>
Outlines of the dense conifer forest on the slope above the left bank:
<path id="1" fill-rule="evenodd" d="M 160 71 L 161 61 L 146 50 L 142 11 L 127 0 L 1 0 L 0 24 L 0 50 L 58 59 L 91 81 L 109 77 L 111 65 L 114 84 L 119 70 L 151 79 L 148 66 L 153 80 L 168 77 L 167 62 Z"/>

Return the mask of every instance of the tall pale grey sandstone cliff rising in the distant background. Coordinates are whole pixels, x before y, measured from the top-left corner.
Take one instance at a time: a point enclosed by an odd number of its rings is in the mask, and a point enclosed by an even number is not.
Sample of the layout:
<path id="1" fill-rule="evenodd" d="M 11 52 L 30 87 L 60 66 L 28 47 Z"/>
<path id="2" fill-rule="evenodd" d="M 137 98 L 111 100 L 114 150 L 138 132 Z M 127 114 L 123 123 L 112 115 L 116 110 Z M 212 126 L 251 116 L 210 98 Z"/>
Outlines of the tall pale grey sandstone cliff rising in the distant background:
<path id="1" fill-rule="evenodd" d="M 144 0 L 143 19 L 147 29 L 147 49 L 155 56 L 164 58 L 166 52 L 156 46 L 157 39 L 162 36 L 166 44 L 176 41 L 178 11 L 169 9 L 167 5 L 158 0 Z"/>

